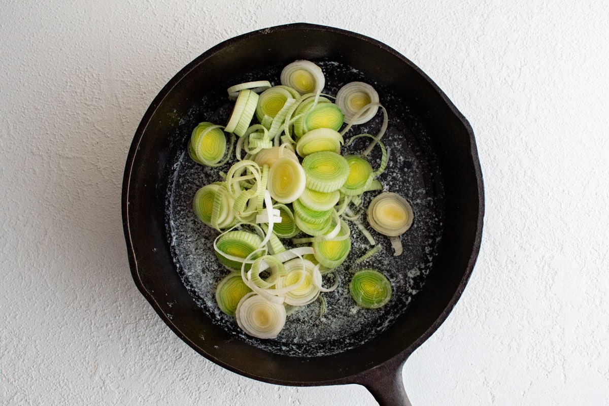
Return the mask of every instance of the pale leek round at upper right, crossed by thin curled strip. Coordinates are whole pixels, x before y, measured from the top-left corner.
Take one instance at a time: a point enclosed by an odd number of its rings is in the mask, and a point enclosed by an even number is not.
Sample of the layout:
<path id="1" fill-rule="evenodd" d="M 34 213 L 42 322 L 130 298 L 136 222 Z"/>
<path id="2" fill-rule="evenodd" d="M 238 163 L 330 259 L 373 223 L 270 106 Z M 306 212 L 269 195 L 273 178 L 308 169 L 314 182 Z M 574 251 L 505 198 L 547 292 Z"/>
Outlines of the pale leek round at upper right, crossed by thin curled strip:
<path id="1" fill-rule="evenodd" d="M 356 114 L 370 103 L 378 103 L 379 95 L 375 88 L 364 82 L 351 82 L 342 86 L 336 94 L 336 104 L 345 114 L 345 122 L 348 124 L 364 124 L 370 121 L 378 107 L 368 108 L 365 113 Z"/>

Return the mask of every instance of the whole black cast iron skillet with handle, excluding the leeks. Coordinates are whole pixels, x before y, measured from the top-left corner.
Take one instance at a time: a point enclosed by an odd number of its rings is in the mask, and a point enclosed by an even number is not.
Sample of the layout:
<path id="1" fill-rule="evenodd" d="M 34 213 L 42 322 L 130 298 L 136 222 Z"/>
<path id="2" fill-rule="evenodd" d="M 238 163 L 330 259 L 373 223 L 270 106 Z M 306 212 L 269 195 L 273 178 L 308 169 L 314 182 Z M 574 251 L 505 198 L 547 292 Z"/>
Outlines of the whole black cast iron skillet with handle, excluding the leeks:
<path id="1" fill-rule="evenodd" d="M 400 257 L 391 257 L 387 241 L 375 234 L 389 259 L 373 265 L 384 267 L 395 282 L 387 309 L 374 317 L 359 310 L 362 325 L 353 323 L 356 327 L 340 334 L 307 337 L 286 329 L 283 338 L 280 334 L 264 341 L 245 336 L 213 309 L 197 275 L 211 273 L 219 280 L 219 267 L 189 269 L 196 264 L 189 262 L 192 257 L 212 255 L 206 250 L 212 234 L 191 221 L 188 217 L 194 216 L 181 206 L 188 206 L 193 188 L 217 179 L 183 154 L 198 122 L 222 124 L 230 114 L 228 86 L 245 80 L 276 83 L 281 67 L 297 59 L 322 66 L 327 93 L 336 93 L 350 80 L 367 81 L 379 89 L 391 117 L 384 141 L 392 162 L 381 181 L 410 200 L 415 222 L 402 237 L 405 253 Z M 375 131 L 381 117 L 379 113 L 362 131 Z M 232 38 L 178 72 L 153 100 L 136 131 L 122 188 L 133 279 L 189 346 L 218 365 L 264 382 L 359 383 L 382 405 L 410 404 L 401 366 L 448 317 L 463 292 L 479 251 L 483 215 L 473 131 L 448 97 L 385 44 L 312 24 L 288 24 Z M 180 216 L 186 219 L 177 221 Z M 194 238 L 189 238 L 191 232 Z M 354 245 L 353 255 L 363 249 Z M 343 293 L 356 268 L 349 262 L 342 270 Z M 328 296 L 328 313 L 333 297 Z M 336 313 L 347 312 L 339 304 L 335 308 Z M 333 326 L 330 316 L 303 322 L 312 323 L 306 330 L 313 332 L 323 323 L 326 329 Z"/>

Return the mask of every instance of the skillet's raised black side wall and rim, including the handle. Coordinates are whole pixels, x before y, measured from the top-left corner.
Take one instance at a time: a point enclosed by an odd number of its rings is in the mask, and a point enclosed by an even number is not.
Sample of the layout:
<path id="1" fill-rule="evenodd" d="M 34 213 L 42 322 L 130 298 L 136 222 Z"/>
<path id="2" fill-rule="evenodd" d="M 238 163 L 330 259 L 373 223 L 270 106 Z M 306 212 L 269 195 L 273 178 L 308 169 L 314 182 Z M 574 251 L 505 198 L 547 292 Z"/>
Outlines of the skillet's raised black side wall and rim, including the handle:
<path id="1" fill-rule="evenodd" d="M 247 78 L 247 72 L 273 71 L 297 59 L 354 68 L 399 95 L 389 102 L 398 117 L 393 124 L 403 126 L 408 134 L 393 153 L 399 156 L 417 144 L 409 152 L 423 163 L 424 188 L 439 225 L 430 268 L 417 286 L 419 292 L 396 320 L 360 345 L 336 347 L 330 355 L 275 351 L 213 320 L 180 276 L 167 220 L 176 163 L 192 128 L 205 119 L 197 113 L 205 111 L 201 103 L 208 99 L 203 96 L 225 94 L 234 84 L 231 80 Z M 412 168 L 396 169 L 406 173 Z M 416 216 L 415 212 L 415 223 Z M 479 251 L 483 216 L 482 173 L 473 131 L 448 97 L 385 44 L 312 24 L 288 24 L 232 38 L 178 72 L 139 124 L 122 188 L 133 279 L 178 337 L 214 363 L 253 379 L 294 386 L 359 383 L 382 405 L 410 404 L 401 383 L 401 366 L 448 317 L 463 292 Z"/>

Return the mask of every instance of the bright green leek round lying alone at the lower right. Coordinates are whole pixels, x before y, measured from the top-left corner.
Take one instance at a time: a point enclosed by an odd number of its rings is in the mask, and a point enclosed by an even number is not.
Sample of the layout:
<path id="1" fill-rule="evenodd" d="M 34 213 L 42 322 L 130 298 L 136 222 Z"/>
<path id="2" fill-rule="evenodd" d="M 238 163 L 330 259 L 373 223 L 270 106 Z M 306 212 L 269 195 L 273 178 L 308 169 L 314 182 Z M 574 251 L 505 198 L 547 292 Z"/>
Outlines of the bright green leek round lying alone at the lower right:
<path id="1" fill-rule="evenodd" d="M 385 275 L 373 269 L 362 269 L 353 275 L 349 293 L 358 306 L 378 309 L 389 302 L 392 289 Z"/>

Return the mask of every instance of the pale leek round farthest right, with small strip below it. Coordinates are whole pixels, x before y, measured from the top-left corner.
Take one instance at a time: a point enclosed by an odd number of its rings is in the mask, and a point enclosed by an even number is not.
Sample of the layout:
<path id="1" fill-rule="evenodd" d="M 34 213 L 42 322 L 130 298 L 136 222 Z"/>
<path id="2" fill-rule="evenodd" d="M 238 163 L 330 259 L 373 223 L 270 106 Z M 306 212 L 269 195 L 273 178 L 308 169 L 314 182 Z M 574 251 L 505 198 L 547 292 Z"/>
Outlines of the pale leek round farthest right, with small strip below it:
<path id="1" fill-rule="evenodd" d="M 392 192 L 375 197 L 368 206 L 368 223 L 381 234 L 390 237 L 394 256 L 401 255 L 400 236 L 412 225 L 414 214 L 405 198 Z"/>

